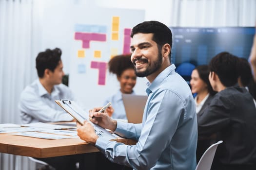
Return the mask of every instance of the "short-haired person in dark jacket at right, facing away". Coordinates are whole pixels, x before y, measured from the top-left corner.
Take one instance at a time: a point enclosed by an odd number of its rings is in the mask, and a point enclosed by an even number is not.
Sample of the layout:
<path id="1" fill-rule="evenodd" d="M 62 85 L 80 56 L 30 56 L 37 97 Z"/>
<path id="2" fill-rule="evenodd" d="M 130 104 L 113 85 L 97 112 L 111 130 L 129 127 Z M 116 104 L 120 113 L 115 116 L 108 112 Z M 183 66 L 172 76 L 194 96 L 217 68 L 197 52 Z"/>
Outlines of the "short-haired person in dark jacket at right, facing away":
<path id="1" fill-rule="evenodd" d="M 209 81 L 218 93 L 198 117 L 198 136 L 216 133 L 212 170 L 255 170 L 256 108 L 253 97 L 237 85 L 238 58 L 221 52 L 210 62 Z"/>

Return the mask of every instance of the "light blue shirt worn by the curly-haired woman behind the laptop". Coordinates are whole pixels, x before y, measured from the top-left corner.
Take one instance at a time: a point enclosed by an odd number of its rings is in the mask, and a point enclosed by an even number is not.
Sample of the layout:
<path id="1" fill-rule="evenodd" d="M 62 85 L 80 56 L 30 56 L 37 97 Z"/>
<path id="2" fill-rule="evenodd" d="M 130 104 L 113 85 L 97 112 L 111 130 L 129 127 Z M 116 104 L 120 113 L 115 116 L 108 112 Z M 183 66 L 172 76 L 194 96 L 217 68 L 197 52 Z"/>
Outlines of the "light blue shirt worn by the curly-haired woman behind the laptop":
<path id="1" fill-rule="evenodd" d="M 132 92 L 132 94 L 135 94 L 134 91 Z M 107 100 L 104 102 L 104 105 L 106 105 L 109 102 L 111 102 L 111 105 L 114 108 L 114 113 L 112 115 L 112 118 L 127 120 L 126 112 L 125 112 L 125 108 L 122 100 L 122 93 L 120 90 L 118 90 L 118 92 L 113 96 L 107 98 Z"/>

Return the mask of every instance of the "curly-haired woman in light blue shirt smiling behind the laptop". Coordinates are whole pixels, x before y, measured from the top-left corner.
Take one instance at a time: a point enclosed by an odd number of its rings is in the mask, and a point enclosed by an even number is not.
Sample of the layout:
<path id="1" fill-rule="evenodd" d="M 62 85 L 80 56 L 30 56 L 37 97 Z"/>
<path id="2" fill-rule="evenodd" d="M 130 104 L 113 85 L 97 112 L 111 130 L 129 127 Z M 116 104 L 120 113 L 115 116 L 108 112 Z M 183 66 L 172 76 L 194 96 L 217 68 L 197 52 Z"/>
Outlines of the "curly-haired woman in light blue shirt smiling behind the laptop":
<path id="1" fill-rule="evenodd" d="M 131 62 L 131 55 L 117 55 L 108 62 L 109 72 L 117 75 L 120 89 L 113 96 L 106 99 L 103 105 L 112 103 L 112 108 L 108 109 L 108 114 L 114 119 L 127 119 L 122 100 L 123 94 L 134 94 L 133 87 L 136 84 L 136 74 L 134 65 Z"/>

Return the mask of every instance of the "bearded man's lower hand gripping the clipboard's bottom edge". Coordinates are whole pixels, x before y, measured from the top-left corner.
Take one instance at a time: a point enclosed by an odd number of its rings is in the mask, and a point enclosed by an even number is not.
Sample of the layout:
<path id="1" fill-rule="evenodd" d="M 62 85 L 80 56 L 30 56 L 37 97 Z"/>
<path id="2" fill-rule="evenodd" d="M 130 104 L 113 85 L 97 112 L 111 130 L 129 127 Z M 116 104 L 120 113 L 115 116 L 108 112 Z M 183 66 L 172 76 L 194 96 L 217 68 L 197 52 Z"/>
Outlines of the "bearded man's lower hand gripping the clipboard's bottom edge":
<path id="1" fill-rule="evenodd" d="M 80 139 L 95 145 L 98 136 L 96 135 L 94 127 L 91 125 L 90 122 L 85 120 L 84 125 L 80 125 L 77 122 L 77 131 Z"/>

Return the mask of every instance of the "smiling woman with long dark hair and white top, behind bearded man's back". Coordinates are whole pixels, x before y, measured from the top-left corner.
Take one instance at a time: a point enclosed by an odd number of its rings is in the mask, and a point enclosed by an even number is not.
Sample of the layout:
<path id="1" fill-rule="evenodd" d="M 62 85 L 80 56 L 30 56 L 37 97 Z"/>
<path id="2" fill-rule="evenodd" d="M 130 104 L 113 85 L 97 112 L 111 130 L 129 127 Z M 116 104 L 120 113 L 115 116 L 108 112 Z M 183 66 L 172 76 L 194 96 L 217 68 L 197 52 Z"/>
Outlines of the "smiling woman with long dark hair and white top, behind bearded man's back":
<path id="1" fill-rule="evenodd" d="M 208 65 L 197 66 L 191 74 L 191 91 L 197 94 L 195 97 L 197 118 L 208 107 L 216 92 L 209 82 L 210 69 Z M 197 140 L 197 163 L 203 153 L 211 145 L 211 138 L 198 138 Z"/>

